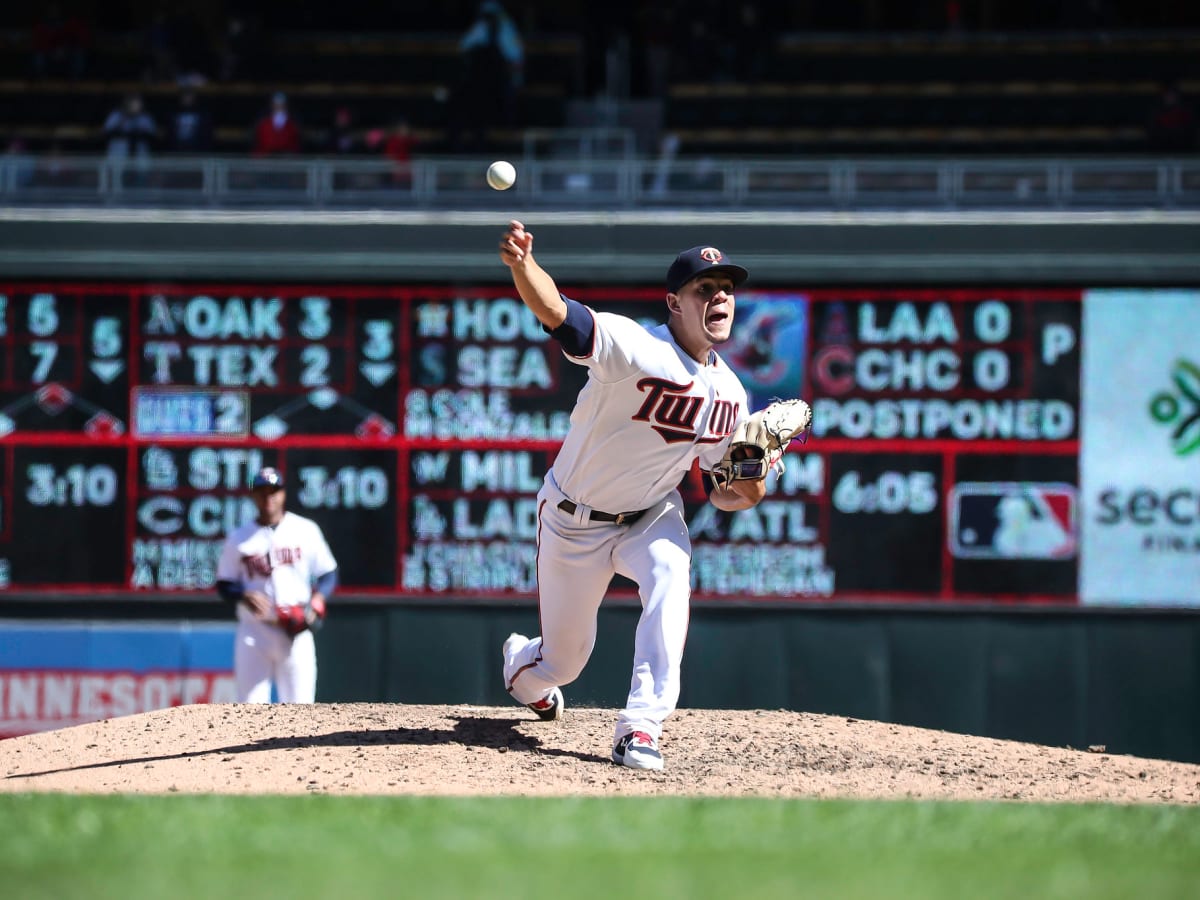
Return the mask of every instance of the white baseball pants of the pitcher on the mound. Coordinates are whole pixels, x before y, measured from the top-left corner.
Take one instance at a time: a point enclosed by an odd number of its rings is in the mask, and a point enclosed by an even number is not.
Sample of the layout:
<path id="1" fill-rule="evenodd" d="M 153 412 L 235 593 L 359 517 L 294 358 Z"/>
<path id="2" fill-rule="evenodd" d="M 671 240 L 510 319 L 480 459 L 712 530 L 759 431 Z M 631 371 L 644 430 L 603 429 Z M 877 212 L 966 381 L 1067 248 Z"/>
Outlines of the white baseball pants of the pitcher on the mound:
<path id="1" fill-rule="evenodd" d="M 575 680 L 595 646 L 596 614 L 614 574 L 638 586 L 642 616 L 634 677 L 614 740 L 631 731 L 658 739 L 679 701 L 679 666 L 691 600 L 691 539 L 683 499 L 672 492 L 631 526 L 568 515 L 547 479 L 538 493 L 538 611 L 541 635 L 504 660 L 504 684 L 520 703 Z M 619 511 L 619 510 L 606 510 Z"/>

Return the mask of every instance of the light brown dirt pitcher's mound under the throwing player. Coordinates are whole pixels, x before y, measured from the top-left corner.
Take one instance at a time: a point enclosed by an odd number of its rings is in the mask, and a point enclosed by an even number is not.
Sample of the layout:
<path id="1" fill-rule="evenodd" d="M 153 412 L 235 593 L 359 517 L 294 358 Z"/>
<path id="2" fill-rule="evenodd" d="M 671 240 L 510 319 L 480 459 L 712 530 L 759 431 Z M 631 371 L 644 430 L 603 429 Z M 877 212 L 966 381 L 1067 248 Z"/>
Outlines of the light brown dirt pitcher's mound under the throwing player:
<path id="1" fill-rule="evenodd" d="M 608 758 L 614 716 L 188 706 L 0 740 L 0 790 L 1200 803 L 1200 766 L 790 712 L 679 710 L 661 744 L 666 770 L 632 772 Z"/>

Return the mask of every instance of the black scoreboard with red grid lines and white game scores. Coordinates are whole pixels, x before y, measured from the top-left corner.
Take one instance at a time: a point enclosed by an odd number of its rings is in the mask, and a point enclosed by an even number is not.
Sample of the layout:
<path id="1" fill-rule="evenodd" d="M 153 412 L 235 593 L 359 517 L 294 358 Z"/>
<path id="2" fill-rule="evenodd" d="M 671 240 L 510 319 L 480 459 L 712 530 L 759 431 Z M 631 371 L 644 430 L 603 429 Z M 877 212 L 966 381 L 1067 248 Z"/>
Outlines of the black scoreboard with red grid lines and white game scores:
<path id="1" fill-rule="evenodd" d="M 664 318 L 658 288 L 564 290 Z M 814 427 L 752 510 L 684 479 L 696 596 L 1074 602 L 1080 310 L 740 293 L 722 356 L 752 408 L 803 396 Z M 211 593 L 275 466 L 341 590 L 528 596 L 584 377 L 511 288 L 0 284 L 0 590 Z"/>

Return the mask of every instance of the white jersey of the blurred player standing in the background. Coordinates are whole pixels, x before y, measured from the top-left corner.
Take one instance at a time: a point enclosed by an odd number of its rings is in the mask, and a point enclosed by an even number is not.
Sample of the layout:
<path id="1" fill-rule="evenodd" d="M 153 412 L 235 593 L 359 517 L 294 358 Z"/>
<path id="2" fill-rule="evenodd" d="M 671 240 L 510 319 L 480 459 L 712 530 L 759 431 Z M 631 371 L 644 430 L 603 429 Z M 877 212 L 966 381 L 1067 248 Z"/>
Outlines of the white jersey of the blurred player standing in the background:
<path id="1" fill-rule="evenodd" d="M 336 568 L 320 527 L 284 512 L 274 528 L 251 521 L 230 532 L 221 550 L 217 580 L 259 590 L 280 608 L 308 602 L 313 581 Z M 253 619 L 253 613 L 239 604 L 238 617 Z"/>

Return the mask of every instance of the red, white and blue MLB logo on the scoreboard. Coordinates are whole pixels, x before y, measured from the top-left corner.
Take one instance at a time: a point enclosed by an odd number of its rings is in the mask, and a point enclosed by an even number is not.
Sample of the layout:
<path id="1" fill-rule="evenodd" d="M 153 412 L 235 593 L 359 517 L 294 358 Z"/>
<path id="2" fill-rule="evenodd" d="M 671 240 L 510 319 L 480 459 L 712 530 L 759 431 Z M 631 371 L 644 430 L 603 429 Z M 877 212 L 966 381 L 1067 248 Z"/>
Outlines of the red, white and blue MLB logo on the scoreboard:
<path id="1" fill-rule="evenodd" d="M 1074 485 L 964 481 L 950 490 L 950 552 L 967 559 L 1069 559 L 1079 546 Z"/>

